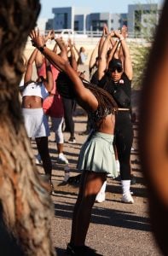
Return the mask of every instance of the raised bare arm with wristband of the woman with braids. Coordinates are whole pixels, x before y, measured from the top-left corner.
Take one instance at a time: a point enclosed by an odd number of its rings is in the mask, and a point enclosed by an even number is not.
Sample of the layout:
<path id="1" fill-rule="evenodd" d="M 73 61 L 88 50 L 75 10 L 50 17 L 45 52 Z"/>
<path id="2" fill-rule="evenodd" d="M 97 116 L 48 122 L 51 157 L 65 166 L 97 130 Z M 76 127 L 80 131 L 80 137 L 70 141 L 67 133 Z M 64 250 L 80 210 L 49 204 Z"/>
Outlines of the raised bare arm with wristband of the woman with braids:
<path id="1" fill-rule="evenodd" d="M 60 67 L 62 71 L 67 73 L 72 80 L 73 89 L 77 96 L 78 103 L 86 110 L 96 110 L 98 102 L 90 90 L 84 87 L 81 79 L 78 78 L 78 73 L 71 67 L 67 59 L 56 55 L 52 50 L 48 49 L 43 42 L 43 38 L 39 35 L 39 31 L 32 31 L 30 34 L 34 45 L 43 52 L 43 55 L 51 61 L 56 67 Z"/>

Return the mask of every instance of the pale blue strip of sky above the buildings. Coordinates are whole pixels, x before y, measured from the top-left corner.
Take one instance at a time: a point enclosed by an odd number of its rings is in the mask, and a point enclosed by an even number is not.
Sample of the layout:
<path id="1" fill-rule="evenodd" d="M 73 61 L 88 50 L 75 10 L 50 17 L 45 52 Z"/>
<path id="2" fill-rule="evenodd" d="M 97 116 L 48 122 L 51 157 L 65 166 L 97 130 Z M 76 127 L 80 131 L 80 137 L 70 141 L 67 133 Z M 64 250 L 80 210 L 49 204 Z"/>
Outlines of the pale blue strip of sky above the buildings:
<path id="1" fill-rule="evenodd" d="M 162 0 L 40 0 L 42 5 L 39 18 L 53 18 L 52 8 L 56 7 L 84 7 L 90 12 L 127 13 L 128 4 L 161 3 Z"/>

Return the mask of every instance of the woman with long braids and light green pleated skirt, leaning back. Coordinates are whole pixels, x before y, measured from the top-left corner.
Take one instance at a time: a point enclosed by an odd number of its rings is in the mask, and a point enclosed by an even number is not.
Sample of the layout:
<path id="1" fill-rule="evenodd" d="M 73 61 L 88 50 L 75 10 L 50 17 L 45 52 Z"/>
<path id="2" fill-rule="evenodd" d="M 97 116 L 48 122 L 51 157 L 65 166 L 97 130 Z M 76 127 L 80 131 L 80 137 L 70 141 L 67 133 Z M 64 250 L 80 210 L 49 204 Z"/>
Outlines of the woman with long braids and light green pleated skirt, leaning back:
<path id="1" fill-rule="evenodd" d="M 106 90 L 91 84 L 84 84 L 69 64 L 68 59 L 61 58 L 46 47 L 39 32 L 32 31 L 30 36 L 33 44 L 41 50 L 43 55 L 67 73 L 73 96 L 78 104 L 90 114 L 93 122 L 94 130 L 81 148 L 78 158 L 78 169 L 83 172 L 78 199 L 73 211 L 72 236 L 67 245 L 67 254 L 98 255 L 84 243 L 96 195 L 108 173 L 112 173 L 113 177 L 118 175 L 114 167 L 113 152 L 114 111 L 117 104 Z"/>

